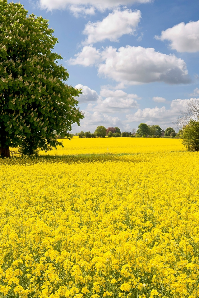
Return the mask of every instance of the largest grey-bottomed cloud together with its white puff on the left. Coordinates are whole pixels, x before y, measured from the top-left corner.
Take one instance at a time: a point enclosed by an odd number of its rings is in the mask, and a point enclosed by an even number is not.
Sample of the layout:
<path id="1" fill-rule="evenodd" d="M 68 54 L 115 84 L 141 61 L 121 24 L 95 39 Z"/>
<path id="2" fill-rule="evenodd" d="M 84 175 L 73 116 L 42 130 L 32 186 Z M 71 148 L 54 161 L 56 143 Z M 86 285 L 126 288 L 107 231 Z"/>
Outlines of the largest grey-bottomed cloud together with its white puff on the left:
<path id="1" fill-rule="evenodd" d="M 83 47 L 68 62 L 72 65 L 98 68 L 99 75 L 123 84 L 136 85 L 152 82 L 167 84 L 188 84 L 187 66 L 183 59 L 173 55 L 155 52 L 154 48 L 144 47 L 106 47 L 97 50 L 92 45 Z"/>

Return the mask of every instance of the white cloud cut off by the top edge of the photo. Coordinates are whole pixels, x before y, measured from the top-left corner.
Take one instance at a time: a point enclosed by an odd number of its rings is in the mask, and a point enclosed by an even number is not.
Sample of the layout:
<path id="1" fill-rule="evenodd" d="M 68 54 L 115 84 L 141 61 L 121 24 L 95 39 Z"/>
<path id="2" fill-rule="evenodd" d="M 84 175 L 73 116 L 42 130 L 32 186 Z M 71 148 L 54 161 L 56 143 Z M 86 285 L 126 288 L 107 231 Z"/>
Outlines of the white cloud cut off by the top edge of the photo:
<path id="1" fill-rule="evenodd" d="M 86 6 L 95 7 L 100 11 L 105 9 L 111 9 L 120 5 L 131 5 L 134 3 L 148 3 L 151 0 L 39 0 L 39 6 L 42 9 L 53 10 L 53 9 L 65 9 L 70 6 Z"/>

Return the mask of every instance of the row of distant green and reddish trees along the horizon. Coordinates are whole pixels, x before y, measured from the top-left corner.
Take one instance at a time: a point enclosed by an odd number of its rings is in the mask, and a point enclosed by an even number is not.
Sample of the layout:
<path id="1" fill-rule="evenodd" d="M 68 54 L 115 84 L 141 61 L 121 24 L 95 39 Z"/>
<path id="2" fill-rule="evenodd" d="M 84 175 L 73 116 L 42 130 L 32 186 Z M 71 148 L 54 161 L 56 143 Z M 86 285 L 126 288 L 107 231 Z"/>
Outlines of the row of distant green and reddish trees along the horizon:
<path id="1" fill-rule="evenodd" d="M 172 127 L 168 127 L 165 131 L 162 130 L 159 125 L 147 125 L 141 123 L 138 129 L 132 129 L 131 131 L 121 132 L 119 127 L 98 126 L 94 133 L 90 131 L 76 133 L 79 138 L 175 138 L 178 137 L 175 130 Z"/>

